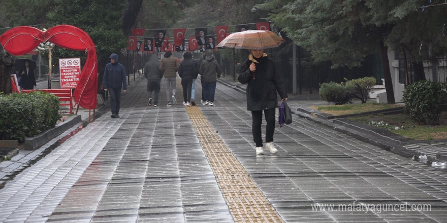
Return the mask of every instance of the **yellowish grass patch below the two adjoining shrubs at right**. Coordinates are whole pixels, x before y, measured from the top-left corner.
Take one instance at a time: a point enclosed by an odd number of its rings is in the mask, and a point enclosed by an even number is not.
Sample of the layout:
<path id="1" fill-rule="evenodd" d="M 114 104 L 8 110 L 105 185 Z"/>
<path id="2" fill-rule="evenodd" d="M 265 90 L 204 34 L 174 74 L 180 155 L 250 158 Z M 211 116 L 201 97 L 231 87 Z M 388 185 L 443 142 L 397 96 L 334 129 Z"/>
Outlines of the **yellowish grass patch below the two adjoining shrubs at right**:
<path id="1" fill-rule="evenodd" d="M 367 102 L 363 104 L 311 106 L 310 108 L 318 110 L 323 113 L 331 114 L 333 116 L 341 116 L 341 115 L 352 115 L 365 112 L 373 112 L 376 110 L 384 110 L 396 107 L 403 107 L 403 105 Z"/>

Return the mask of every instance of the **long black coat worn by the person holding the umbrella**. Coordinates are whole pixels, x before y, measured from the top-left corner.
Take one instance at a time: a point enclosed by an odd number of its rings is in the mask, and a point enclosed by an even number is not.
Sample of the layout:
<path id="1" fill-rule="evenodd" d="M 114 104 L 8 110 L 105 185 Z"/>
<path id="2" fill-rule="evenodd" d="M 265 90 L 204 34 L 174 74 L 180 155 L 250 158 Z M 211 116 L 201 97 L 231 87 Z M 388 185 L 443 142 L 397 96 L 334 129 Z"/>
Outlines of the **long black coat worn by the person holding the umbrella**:
<path id="1" fill-rule="evenodd" d="M 264 110 L 278 106 L 278 92 L 281 98 L 286 98 L 287 93 L 281 75 L 275 67 L 273 60 L 263 56 L 260 63 L 256 63 L 256 71 L 250 71 L 252 63 L 251 54 L 241 67 L 238 81 L 247 86 L 247 110 Z"/>

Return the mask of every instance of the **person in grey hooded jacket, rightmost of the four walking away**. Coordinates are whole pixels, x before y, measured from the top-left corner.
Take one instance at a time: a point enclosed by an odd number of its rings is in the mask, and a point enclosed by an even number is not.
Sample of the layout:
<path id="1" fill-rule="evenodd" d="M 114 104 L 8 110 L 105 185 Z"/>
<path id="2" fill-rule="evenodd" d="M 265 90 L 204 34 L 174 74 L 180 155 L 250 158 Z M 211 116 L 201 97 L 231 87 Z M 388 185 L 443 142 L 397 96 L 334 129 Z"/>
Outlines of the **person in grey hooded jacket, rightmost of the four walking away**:
<path id="1" fill-rule="evenodd" d="M 214 94 L 216 92 L 217 79 L 220 78 L 220 66 L 214 60 L 213 52 L 207 50 L 205 59 L 202 60 L 199 67 L 199 73 L 202 80 L 202 101 L 203 105 L 214 106 Z"/>

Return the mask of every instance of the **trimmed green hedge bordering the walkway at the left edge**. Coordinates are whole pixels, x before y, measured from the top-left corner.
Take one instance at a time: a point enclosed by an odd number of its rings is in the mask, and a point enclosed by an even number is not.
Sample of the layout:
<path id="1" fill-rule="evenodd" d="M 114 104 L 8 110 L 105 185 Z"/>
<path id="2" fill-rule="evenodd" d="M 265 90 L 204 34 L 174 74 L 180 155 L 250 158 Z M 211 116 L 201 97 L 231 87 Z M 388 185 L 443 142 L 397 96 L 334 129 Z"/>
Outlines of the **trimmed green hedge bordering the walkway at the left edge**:
<path id="1" fill-rule="evenodd" d="M 59 98 L 41 91 L 0 95 L 0 140 L 23 141 L 56 126 Z"/>

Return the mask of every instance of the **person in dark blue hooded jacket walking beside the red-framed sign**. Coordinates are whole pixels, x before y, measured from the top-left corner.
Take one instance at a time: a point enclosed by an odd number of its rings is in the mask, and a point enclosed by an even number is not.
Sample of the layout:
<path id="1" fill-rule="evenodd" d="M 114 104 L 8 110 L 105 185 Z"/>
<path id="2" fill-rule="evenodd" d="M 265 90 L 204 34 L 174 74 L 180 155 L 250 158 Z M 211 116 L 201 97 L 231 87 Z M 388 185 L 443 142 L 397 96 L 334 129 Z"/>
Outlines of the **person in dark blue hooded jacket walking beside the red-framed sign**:
<path id="1" fill-rule="evenodd" d="M 121 103 L 121 88 L 123 92 L 127 91 L 126 74 L 124 66 L 119 63 L 118 54 L 110 55 L 110 63 L 104 69 L 104 91 L 110 94 L 110 108 L 112 118 L 119 118 L 119 107 Z"/>

